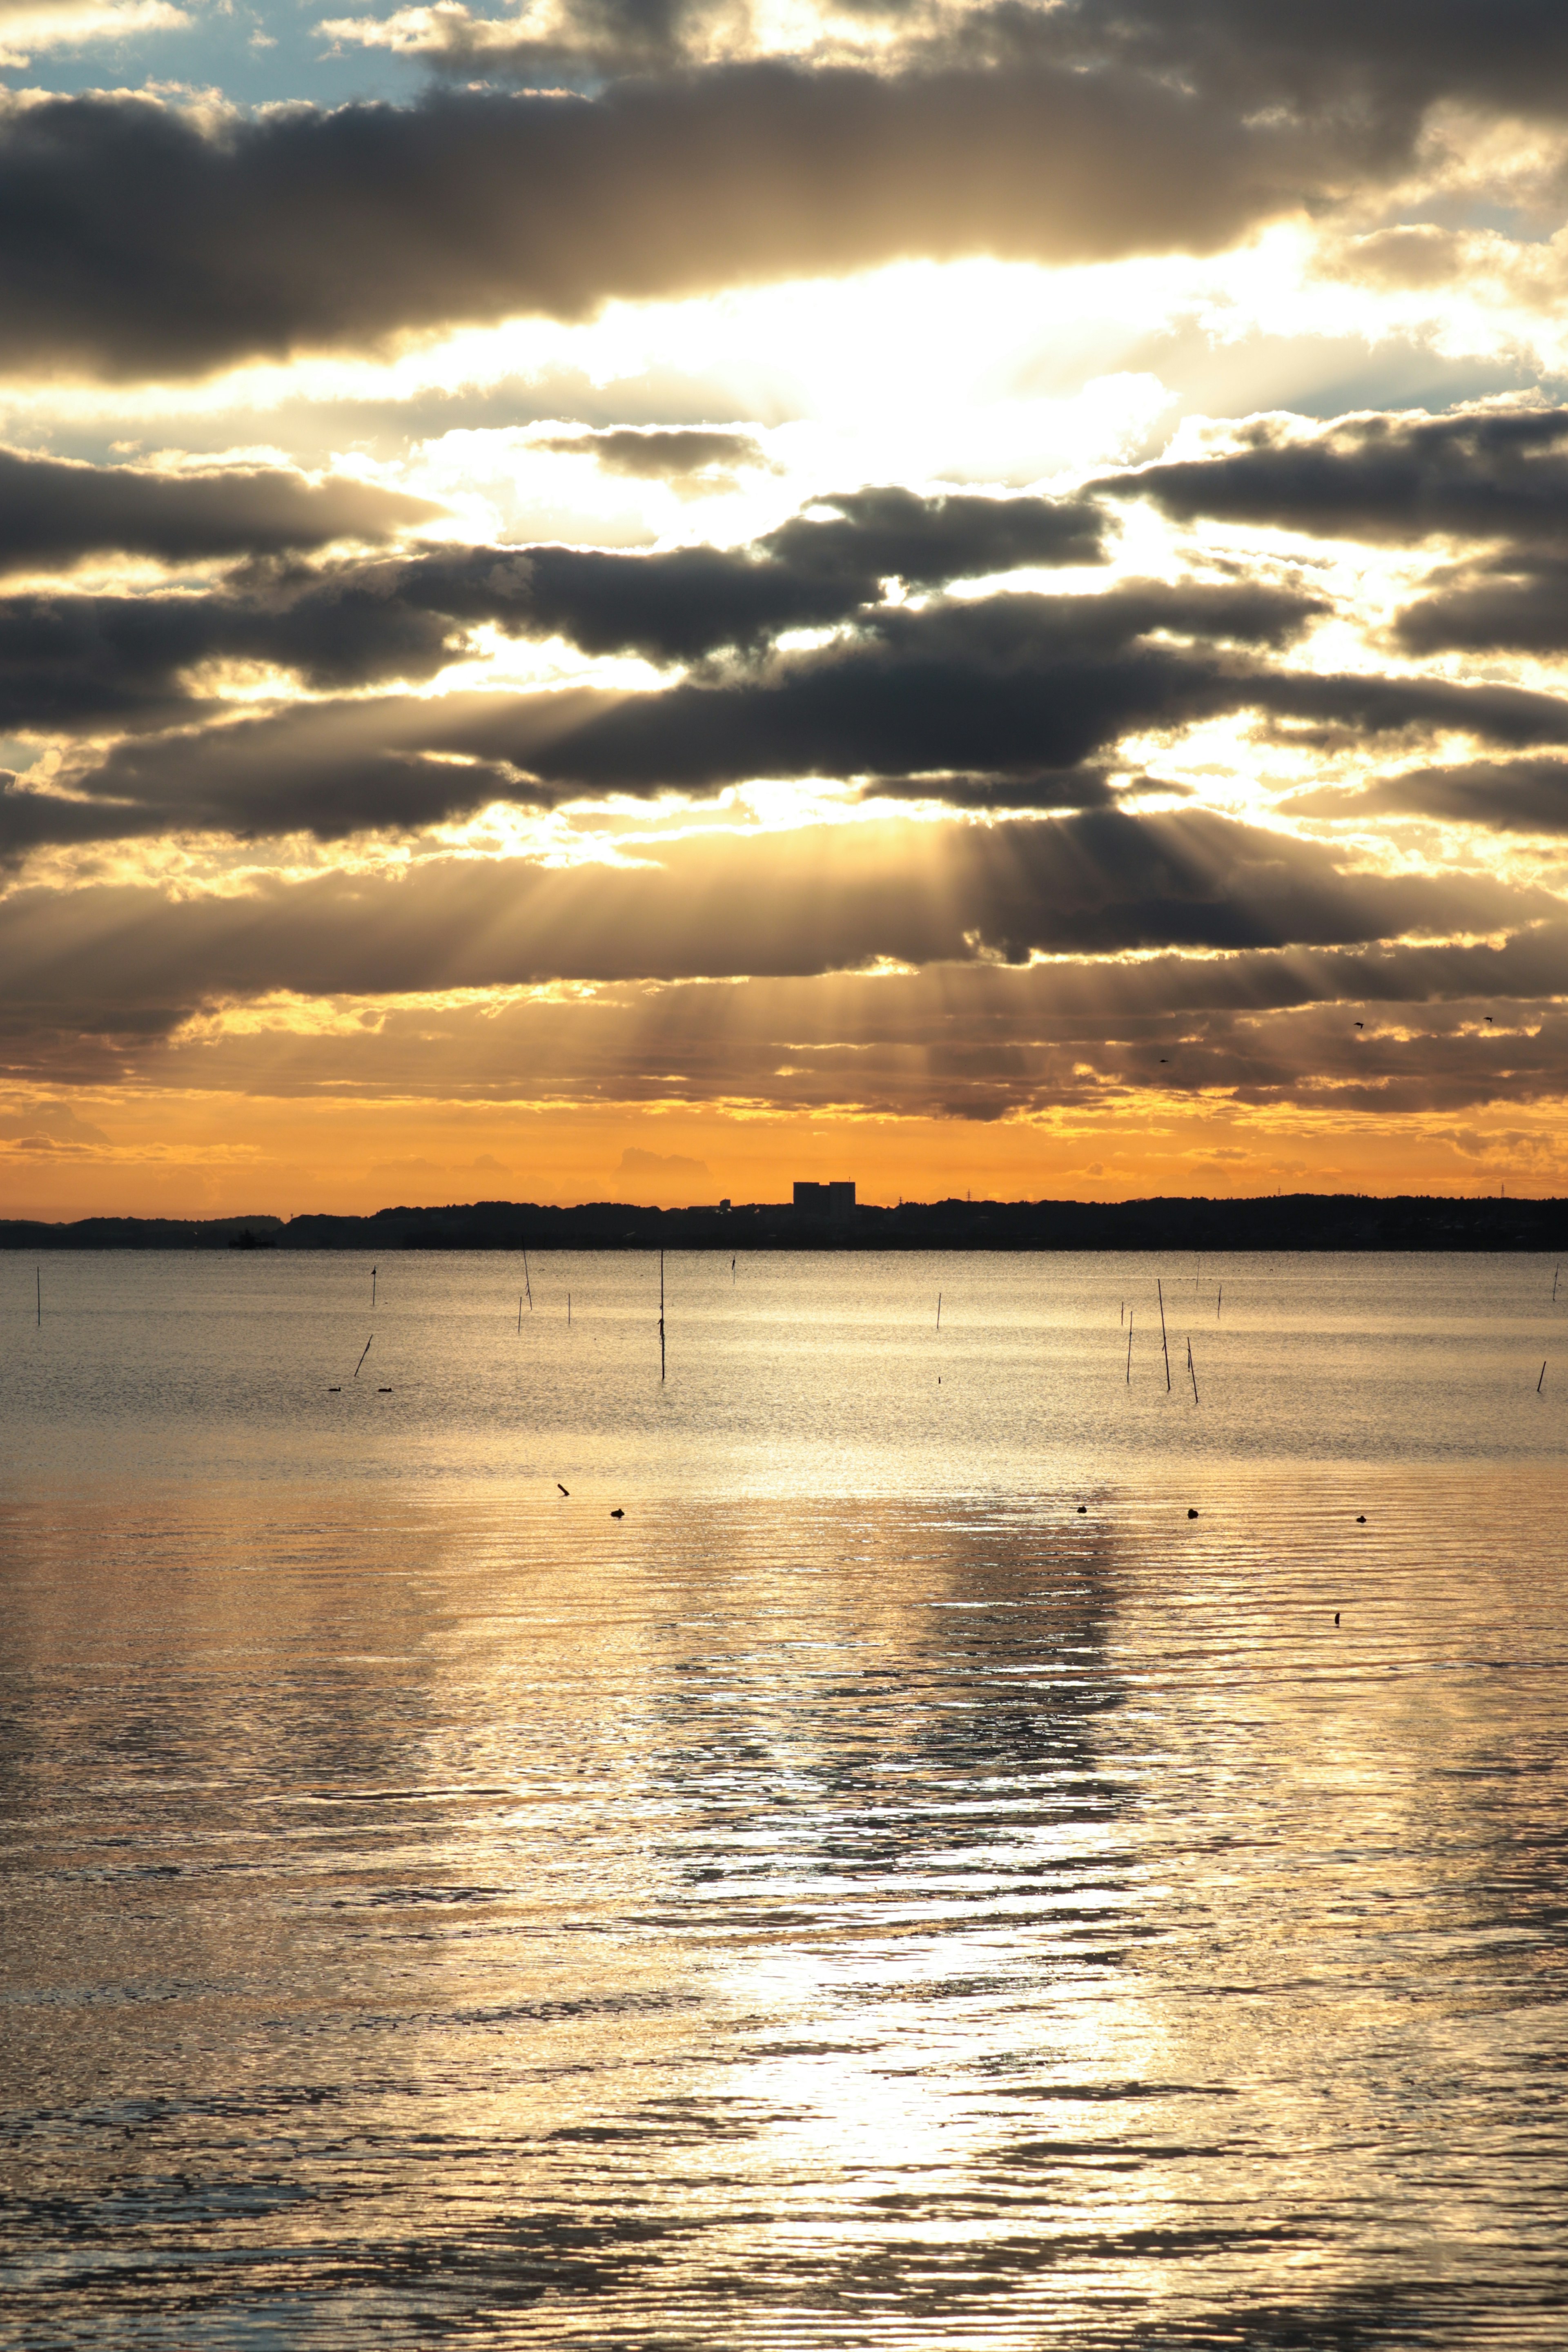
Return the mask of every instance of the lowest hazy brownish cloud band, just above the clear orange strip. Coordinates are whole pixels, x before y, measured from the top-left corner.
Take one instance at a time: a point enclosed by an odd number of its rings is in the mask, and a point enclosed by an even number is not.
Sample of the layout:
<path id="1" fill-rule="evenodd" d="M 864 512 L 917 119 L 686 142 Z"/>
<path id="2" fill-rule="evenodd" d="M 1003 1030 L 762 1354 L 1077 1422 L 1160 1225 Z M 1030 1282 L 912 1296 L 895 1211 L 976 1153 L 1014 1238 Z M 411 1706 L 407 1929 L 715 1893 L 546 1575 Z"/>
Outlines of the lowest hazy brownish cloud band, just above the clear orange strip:
<path id="1" fill-rule="evenodd" d="M 120 906 L 134 934 L 150 915 L 146 896 L 136 903 L 141 915 Z M 1034 967 L 973 960 L 482 1000 L 341 997 L 327 1021 L 320 1007 L 294 1014 L 273 1000 L 266 1018 L 228 1025 L 214 1014 L 190 1030 L 167 1002 L 139 1025 L 129 1007 L 118 1009 L 118 1028 L 61 1028 L 71 1007 L 19 1004 L 0 1025 L 0 1058 L 14 1073 L 42 1063 L 59 1082 L 125 1073 L 183 1091 L 339 1101 L 350 1091 L 367 1103 L 512 1101 L 515 1073 L 527 1070 L 534 1098 L 588 1108 L 684 1098 L 964 1120 L 1079 1108 L 1143 1122 L 1150 1110 L 1229 1103 L 1399 1120 L 1483 1101 L 1561 1101 L 1568 1018 L 1542 1002 L 1554 993 L 1568 993 L 1561 920 L 1505 943 Z M 1133 1152 L 1138 1136 L 1133 1127 Z M 1241 1120 L 1239 1155 L 1248 1138 Z M 447 1171 L 442 1192 L 423 1197 L 496 1190 L 505 1185 L 494 1176 Z M 717 1190 L 710 1178 L 691 1197 Z"/>

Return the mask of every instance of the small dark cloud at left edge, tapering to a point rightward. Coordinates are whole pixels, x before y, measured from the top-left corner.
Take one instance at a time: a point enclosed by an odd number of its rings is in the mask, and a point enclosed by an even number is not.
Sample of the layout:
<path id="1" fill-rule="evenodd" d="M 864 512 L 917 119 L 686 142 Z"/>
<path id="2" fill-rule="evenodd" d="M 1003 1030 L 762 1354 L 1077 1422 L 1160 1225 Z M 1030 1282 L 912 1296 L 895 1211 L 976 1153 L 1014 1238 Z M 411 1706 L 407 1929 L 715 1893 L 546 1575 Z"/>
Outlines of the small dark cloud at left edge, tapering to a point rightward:
<path id="1" fill-rule="evenodd" d="M 386 539 L 437 513 L 428 499 L 369 482 L 306 482 L 280 466 L 162 475 L 0 449 L 0 572 L 63 569 L 87 555 L 165 564 L 282 555 L 334 539 Z"/>

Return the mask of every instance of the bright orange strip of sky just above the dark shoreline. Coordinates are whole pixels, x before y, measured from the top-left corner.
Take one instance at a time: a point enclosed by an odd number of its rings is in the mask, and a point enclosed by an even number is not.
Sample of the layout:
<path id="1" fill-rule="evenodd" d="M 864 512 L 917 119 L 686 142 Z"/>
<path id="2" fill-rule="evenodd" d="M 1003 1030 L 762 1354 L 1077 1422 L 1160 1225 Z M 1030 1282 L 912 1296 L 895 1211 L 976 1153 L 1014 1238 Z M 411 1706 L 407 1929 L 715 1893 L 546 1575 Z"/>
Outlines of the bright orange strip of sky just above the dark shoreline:
<path id="1" fill-rule="evenodd" d="M 1568 1192 L 1568 1145 L 1552 1105 L 1373 1120 L 1161 1101 L 959 1122 L 127 1091 L 82 1096 L 68 1108 L 75 1134 L 0 1143 L 0 1216 L 68 1223 L 364 1216 L 475 1200 L 783 1202 L 797 1176 L 853 1178 L 870 1204 L 964 1192 Z"/>

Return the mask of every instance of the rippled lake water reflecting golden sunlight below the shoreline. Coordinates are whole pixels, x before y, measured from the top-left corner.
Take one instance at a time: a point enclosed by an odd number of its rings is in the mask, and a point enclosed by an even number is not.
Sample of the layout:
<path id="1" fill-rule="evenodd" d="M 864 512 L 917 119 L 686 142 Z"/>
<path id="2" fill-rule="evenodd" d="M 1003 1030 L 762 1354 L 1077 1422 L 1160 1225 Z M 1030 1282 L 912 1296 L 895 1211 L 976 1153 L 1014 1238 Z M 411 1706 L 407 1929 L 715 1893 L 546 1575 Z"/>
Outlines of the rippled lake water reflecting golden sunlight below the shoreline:
<path id="1" fill-rule="evenodd" d="M 1554 1265 L 529 1284 L 0 1258 L 0 2343 L 1568 2343 Z"/>

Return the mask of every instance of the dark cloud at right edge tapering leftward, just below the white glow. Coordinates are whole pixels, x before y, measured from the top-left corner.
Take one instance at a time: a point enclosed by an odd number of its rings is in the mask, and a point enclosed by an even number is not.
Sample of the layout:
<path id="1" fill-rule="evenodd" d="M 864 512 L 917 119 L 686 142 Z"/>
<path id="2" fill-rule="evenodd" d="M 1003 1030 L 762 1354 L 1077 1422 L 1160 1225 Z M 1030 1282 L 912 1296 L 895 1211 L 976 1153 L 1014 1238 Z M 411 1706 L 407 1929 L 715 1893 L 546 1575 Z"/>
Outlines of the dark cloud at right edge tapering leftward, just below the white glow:
<path id="1" fill-rule="evenodd" d="M 1568 536 L 1568 409 L 1342 416 L 1302 435 L 1258 419 L 1215 459 L 1091 485 L 1180 522 L 1255 522 L 1324 539 L 1556 541 Z"/>

